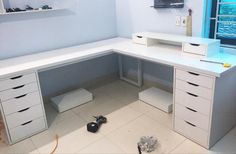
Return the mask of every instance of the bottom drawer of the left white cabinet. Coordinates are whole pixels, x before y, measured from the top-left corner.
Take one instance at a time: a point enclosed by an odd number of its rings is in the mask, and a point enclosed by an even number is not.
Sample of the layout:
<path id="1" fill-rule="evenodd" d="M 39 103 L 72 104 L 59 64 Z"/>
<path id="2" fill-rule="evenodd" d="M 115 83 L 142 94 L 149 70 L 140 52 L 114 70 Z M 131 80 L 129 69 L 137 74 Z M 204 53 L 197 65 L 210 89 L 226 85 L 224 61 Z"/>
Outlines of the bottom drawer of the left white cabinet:
<path id="1" fill-rule="evenodd" d="M 29 137 L 37 132 L 46 128 L 45 120 L 43 117 L 29 121 L 25 125 L 20 125 L 16 128 L 10 129 L 10 136 L 12 142 L 19 141 L 25 137 Z"/>

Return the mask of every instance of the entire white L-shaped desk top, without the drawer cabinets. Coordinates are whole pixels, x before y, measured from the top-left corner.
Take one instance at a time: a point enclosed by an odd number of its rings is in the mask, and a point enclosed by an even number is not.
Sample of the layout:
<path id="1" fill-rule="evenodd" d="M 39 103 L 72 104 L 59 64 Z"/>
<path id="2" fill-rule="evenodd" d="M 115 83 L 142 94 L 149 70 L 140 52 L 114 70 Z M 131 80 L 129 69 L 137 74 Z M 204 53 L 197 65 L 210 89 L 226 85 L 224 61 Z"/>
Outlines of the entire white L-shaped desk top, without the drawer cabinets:
<path id="1" fill-rule="evenodd" d="M 168 48 L 166 45 L 145 47 L 133 44 L 130 39 L 114 38 L 80 46 L 1 60 L 0 78 L 18 74 L 20 72 L 40 71 L 51 67 L 80 62 L 111 54 L 113 52 L 170 66 L 184 67 L 192 71 L 199 71 L 216 77 L 219 77 L 236 66 L 235 55 L 221 53 L 214 57 L 207 58 L 233 64 L 233 67 L 226 69 L 218 64 L 204 63 L 196 58 L 182 56 L 180 51 L 181 49 L 176 46 L 168 46 Z"/>

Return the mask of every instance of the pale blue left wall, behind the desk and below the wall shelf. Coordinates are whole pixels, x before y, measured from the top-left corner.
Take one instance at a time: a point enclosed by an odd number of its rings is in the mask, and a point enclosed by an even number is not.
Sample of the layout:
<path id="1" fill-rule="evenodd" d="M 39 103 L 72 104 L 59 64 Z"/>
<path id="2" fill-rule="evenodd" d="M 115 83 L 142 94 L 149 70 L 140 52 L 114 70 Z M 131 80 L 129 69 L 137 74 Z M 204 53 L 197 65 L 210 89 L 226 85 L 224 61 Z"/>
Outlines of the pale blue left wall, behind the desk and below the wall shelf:
<path id="1" fill-rule="evenodd" d="M 40 6 L 53 1 L 69 9 L 0 16 L 0 59 L 116 36 L 115 0 L 4 1 L 11 7 Z"/>

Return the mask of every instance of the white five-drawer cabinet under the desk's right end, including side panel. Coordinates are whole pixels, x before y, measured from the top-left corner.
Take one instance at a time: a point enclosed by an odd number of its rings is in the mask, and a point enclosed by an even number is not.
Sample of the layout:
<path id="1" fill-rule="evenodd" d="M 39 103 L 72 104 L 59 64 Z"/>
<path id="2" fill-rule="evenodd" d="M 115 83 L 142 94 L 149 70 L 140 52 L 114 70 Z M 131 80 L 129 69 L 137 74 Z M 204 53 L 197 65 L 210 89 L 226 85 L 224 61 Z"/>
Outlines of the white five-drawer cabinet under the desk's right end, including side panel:
<path id="1" fill-rule="evenodd" d="M 236 125 L 236 69 L 216 78 L 175 68 L 174 130 L 209 149 Z"/>

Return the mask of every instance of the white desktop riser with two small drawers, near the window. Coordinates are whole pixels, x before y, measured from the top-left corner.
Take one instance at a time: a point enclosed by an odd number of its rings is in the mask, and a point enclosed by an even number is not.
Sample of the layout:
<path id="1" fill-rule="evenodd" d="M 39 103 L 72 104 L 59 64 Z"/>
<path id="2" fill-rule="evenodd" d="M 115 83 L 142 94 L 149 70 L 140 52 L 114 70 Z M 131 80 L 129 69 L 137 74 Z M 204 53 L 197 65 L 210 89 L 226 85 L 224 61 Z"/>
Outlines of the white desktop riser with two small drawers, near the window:
<path id="1" fill-rule="evenodd" d="M 172 44 L 180 46 L 183 55 L 195 57 L 209 57 L 220 49 L 220 40 L 152 32 L 133 34 L 133 42 L 147 47 Z"/>

